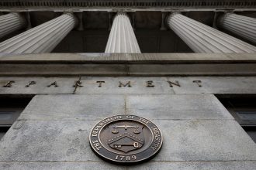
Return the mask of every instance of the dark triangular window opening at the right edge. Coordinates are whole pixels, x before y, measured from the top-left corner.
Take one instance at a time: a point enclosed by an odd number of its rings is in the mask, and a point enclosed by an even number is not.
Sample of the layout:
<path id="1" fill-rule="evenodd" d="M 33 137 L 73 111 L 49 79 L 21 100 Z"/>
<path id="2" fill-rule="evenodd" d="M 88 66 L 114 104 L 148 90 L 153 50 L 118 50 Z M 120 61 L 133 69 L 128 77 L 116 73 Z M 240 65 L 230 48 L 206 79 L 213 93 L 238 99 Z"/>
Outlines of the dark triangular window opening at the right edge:
<path id="1" fill-rule="evenodd" d="M 219 100 L 256 143 L 256 97 L 231 95 L 219 97 Z"/>

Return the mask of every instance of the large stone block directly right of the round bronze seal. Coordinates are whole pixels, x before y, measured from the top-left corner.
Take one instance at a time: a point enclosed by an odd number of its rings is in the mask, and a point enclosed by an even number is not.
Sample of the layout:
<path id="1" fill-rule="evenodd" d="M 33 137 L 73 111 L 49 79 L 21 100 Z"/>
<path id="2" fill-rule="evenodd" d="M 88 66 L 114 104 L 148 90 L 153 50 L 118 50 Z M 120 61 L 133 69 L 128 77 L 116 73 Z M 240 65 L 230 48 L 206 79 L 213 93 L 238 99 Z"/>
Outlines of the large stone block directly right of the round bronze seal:
<path id="1" fill-rule="evenodd" d="M 164 144 L 154 161 L 255 161 L 256 144 L 237 121 L 154 121 Z"/>

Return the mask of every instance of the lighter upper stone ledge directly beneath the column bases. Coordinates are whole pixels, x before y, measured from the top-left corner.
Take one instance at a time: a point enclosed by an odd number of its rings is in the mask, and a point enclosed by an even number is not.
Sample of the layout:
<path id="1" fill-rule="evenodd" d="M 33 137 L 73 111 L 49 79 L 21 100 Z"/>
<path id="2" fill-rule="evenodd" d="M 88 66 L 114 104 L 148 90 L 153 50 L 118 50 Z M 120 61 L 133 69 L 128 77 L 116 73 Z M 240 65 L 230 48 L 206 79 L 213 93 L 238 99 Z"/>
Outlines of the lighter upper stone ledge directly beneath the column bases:
<path id="1" fill-rule="evenodd" d="M 4 54 L 0 63 L 256 63 L 255 53 Z"/>

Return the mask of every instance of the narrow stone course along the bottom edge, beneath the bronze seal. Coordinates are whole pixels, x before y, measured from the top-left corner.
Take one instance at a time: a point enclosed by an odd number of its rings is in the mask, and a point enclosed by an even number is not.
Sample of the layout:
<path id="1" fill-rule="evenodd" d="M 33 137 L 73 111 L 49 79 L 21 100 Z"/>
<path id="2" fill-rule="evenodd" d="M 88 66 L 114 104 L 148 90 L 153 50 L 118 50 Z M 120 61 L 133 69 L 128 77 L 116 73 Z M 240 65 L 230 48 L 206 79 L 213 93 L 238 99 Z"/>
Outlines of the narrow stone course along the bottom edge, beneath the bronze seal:
<path id="1" fill-rule="evenodd" d="M 6 170 L 48 169 L 106 169 L 106 170 L 254 170 L 256 162 L 146 162 L 141 165 L 121 166 L 108 162 L 0 162 Z"/>

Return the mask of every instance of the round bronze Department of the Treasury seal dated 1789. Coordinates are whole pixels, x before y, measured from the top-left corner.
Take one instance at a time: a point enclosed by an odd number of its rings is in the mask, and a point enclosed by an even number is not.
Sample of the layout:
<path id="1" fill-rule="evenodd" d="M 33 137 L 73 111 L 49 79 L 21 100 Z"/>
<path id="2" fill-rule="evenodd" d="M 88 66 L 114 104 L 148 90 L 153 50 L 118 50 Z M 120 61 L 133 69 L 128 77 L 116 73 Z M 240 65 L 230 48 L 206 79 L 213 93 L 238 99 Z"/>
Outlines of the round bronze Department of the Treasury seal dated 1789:
<path id="1" fill-rule="evenodd" d="M 107 117 L 90 133 L 90 144 L 97 155 L 119 163 L 142 162 L 161 149 L 161 131 L 151 121 L 134 115 Z"/>

